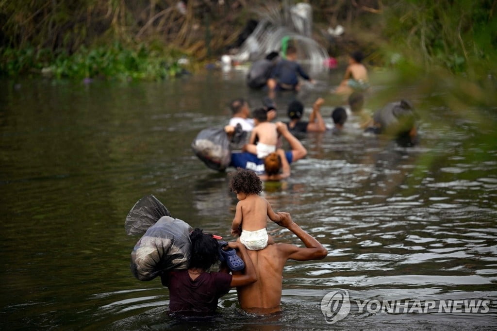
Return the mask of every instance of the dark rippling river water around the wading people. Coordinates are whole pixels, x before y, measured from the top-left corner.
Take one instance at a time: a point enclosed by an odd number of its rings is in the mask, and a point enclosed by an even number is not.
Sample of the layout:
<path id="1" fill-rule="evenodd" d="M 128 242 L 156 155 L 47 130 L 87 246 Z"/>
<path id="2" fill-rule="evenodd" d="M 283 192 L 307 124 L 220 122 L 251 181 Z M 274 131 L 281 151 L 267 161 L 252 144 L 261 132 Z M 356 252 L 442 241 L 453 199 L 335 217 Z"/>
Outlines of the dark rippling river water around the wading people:
<path id="1" fill-rule="evenodd" d="M 160 83 L 0 82 L 1 330 L 497 328 L 495 126 L 453 119 L 422 96 L 413 101 L 432 111 L 419 146 L 363 136 L 350 118 L 344 135 L 303 137 L 307 158 L 288 180 L 265 184 L 273 209 L 290 212 L 329 251 L 287 263 L 282 313 L 245 314 L 231 291 L 214 320 L 169 318 L 160 280 L 130 272 L 139 238 L 125 234 L 124 221 L 154 194 L 174 217 L 230 238 L 237 201 L 227 174 L 203 165 L 190 144 L 201 129 L 227 123 L 233 98 L 260 106 L 264 93 L 248 91 L 244 77 L 234 70 Z M 327 95 L 329 80 L 300 95 L 308 108 Z M 278 96 L 279 119 L 289 97 Z M 337 104 L 326 97 L 331 124 Z M 496 123 L 495 109 L 467 111 Z M 299 243 L 274 224 L 268 230 L 278 242 Z M 331 325 L 321 302 L 339 290 L 351 311 Z M 469 299 L 490 300 L 489 309 L 389 313 L 371 305 Z"/>

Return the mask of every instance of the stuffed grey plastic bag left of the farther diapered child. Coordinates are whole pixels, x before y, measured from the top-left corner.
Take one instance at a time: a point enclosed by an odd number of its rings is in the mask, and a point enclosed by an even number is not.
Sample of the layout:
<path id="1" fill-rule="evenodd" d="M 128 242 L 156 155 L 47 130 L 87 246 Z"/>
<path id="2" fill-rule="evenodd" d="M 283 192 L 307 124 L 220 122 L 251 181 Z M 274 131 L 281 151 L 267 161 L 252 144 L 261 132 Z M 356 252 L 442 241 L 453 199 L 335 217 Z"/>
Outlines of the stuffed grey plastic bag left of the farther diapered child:
<path id="1" fill-rule="evenodd" d="M 224 128 L 200 131 L 191 143 L 195 155 L 209 168 L 224 171 L 231 162 L 231 147 Z"/>

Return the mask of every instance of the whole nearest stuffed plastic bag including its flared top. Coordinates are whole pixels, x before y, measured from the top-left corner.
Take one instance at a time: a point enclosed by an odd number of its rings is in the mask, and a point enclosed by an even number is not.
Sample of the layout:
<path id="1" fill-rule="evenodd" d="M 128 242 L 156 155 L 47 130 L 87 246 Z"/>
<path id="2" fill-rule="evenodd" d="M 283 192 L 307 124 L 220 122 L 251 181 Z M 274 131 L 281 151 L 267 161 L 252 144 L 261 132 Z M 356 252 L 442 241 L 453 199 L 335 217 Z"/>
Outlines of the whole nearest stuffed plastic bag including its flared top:
<path id="1" fill-rule="evenodd" d="M 128 234 L 137 234 L 150 225 L 131 252 L 131 272 L 139 280 L 152 280 L 164 271 L 188 267 L 192 228 L 170 214 L 161 214 L 169 211 L 149 195 L 139 200 L 126 218 Z"/>

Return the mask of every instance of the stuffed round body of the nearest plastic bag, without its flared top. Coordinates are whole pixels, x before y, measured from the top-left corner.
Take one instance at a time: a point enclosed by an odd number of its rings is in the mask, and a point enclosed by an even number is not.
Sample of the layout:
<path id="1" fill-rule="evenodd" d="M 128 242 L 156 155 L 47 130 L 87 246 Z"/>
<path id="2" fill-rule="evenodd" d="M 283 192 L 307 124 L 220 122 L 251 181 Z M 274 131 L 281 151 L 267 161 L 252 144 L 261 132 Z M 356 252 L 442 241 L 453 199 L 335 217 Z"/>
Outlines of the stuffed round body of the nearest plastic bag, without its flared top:
<path id="1" fill-rule="evenodd" d="M 190 231 L 184 221 L 164 216 L 151 226 L 131 252 L 131 272 L 143 281 L 164 271 L 188 268 Z"/>

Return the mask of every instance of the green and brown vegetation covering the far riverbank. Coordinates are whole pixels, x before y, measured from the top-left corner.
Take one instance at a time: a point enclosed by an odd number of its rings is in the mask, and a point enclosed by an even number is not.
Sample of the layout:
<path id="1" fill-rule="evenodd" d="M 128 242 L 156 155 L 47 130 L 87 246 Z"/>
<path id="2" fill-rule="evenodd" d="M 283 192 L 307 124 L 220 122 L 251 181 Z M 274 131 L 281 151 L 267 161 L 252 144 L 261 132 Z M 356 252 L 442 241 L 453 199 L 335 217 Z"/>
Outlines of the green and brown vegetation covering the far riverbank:
<path id="1" fill-rule="evenodd" d="M 184 70 L 182 58 L 214 61 L 240 45 L 250 19 L 294 2 L 0 0 L 0 75 L 164 79 Z M 312 1 L 314 37 L 330 48 L 326 30 L 341 24 L 334 56 L 360 47 L 406 78 L 429 69 L 487 84 L 496 75 L 496 2 Z"/>

